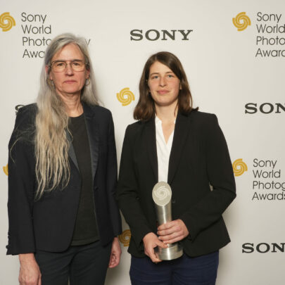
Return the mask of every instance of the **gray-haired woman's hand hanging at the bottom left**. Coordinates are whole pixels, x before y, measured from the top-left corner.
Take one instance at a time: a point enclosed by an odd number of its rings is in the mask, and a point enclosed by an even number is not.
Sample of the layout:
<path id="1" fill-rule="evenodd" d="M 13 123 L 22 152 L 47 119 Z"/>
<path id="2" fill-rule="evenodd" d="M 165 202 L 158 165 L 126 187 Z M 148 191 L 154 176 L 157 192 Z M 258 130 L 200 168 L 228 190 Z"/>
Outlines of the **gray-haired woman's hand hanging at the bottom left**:
<path id="1" fill-rule="evenodd" d="M 20 285 L 42 285 L 42 274 L 34 258 L 34 253 L 19 254 Z"/>

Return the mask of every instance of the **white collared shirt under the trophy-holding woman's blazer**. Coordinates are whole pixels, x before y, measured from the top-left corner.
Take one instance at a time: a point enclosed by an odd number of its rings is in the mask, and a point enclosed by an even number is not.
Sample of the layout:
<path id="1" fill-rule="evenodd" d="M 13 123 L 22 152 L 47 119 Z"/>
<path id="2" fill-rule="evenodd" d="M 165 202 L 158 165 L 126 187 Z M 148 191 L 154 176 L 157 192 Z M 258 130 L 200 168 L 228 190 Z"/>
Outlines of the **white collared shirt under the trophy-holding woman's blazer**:
<path id="1" fill-rule="evenodd" d="M 167 182 L 170 151 L 172 147 L 174 129 L 167 141 L 163 135 L 163 122 L 156 116 L 156 151 L 158 154 L 158 182 Z"/>

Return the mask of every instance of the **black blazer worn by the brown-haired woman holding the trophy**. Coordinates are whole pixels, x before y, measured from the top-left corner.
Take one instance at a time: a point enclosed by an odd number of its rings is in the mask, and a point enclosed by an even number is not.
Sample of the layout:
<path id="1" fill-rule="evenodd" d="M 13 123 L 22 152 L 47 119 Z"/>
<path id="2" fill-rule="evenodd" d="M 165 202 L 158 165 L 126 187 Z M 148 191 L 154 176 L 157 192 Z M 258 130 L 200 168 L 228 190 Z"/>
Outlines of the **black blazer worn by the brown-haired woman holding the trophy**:
<path id="1" fill-rule="evenodd" d="M 157 182 L 155 120 L 135 122 L 125 133 L 117 195 L 132 232 L 129 253 L 137 257 L 144 256 L 143 237 L 157 232 L 152 199 Z M 183 220 L 189 230 L 181 241 L 187 255 L 211 253 L 229 243 L 222 213 L 236 189 L 215 115 L 198 111 L 177 115 L 167 182 L 172 189 L 172 219 Z"/>

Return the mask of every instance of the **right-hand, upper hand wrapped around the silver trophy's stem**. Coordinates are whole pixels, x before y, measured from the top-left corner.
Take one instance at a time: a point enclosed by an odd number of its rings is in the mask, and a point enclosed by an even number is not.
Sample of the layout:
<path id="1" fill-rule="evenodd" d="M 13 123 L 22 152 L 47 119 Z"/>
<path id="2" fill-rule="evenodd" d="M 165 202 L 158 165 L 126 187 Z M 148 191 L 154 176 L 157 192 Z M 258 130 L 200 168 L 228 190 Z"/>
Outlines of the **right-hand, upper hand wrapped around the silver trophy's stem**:
<path id="1" fill-rule="evenodd" d="M 189 231 L 180 219 L 166 222 L 158 227 L 158 239 L 164 243 L 175 243 L 189 235 Z"/>

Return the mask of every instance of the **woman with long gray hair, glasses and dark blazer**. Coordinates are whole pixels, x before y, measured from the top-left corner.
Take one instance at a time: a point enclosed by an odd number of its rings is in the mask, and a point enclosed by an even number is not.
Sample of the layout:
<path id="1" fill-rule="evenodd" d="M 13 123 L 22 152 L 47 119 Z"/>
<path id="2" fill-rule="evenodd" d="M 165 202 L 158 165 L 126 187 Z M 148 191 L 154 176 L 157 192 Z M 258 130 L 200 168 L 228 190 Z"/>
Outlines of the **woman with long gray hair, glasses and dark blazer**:
<path id="1" fill-rule="evenodd" d="M 53 39 L 40 84 L 9 142 L 7 254 L 19 255 L 21 285 L 103 284 L 121 254 L 117 160 L 85 40 Z"/>

